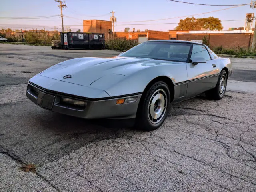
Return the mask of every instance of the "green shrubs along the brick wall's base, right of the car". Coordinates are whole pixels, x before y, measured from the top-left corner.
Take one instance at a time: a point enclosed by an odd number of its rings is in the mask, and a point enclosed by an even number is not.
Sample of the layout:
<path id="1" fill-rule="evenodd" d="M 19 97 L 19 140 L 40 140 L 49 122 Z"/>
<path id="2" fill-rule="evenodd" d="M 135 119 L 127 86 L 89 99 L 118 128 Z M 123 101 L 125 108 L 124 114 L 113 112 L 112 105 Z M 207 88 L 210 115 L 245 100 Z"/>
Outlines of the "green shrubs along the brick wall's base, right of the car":
<path id="1" fill-rule="evenodd" d="M 226 55 L 235 55 L 237 57 L 248 57 L 248 56 L 256 56 L 256 50 L 251 50 L 249 48 L 223 48 L 219 47 L 211 47 L 211 50 L 216 54 L 226 54 Z"/>

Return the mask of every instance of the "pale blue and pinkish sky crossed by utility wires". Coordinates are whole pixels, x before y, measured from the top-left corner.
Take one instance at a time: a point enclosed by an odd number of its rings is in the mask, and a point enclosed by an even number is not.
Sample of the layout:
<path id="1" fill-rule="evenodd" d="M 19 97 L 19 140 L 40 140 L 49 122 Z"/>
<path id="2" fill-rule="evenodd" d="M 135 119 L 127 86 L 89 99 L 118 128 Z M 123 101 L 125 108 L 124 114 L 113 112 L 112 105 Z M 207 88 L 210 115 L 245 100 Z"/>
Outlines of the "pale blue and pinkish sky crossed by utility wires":
<path id="1" fill-rule="evenodd" d="M 201 4 L 247 4 L 251 0 L 180 0 L 184 2 L 193 2 Z M 22 3 L 21 3 L 22 2 Z M 230 6 L 201 6 L 172 2 L 169 0 L 66 0 L 66 8 L 63 9 L 64 28 L 69 26 L 72 31 L 81 29 L 82 20 L 99 19 L 110 20 L 114 10 L 114 16 L 117 18 L 115 22 L 115 31 L 124 31 L 124 28 L 129 27 L 140 29 L 140 31 L 173 30 L 180 19 L 186 18 L 188 15 L 201 14 L 215 10 L 230 8 Z M 46 30 L 61 30 L 60 8 L 55 0 L 2 0 L 0 6 L 0 28 L 12 28 L 28 30 L 42 29 L 45 26 Z M 194 16 L 195 18 L 202 17 L 217 17 L 220 20 L 242 20 L 242 21 L 226 21 L 222 22 L 224 30 L 229 27 L 243 27 L 246 13 L 256 15 L 256 9 L 250 8 L 250 5 L 230 8 L 218 12 L 201 14 Z M 57 16 L 55 16 L 57 15 Z M 54 16 L 51 18 L 42 19 L 16 19 L 16 17 L 39 17 L 39 16 Z M 184 17 L 185 16 L 185 17 Z M 14 19 L 10 19 L 10 17 Z M 174 18 L 181 17 L 181 18 Z M 172 18 L 172 19 L 166 19 Z M 165 20 L 158 20 L 165 19 Z M 148 22 L 131 22 L 157 20 Z M 164 24 L 162 24 L 164 23 Z M 168 23 L 168 24 L 165 24 Z M 172 24 L 169 24 L 172 23 Z M 54 27 L 55 26 L 55 27 Z"/>

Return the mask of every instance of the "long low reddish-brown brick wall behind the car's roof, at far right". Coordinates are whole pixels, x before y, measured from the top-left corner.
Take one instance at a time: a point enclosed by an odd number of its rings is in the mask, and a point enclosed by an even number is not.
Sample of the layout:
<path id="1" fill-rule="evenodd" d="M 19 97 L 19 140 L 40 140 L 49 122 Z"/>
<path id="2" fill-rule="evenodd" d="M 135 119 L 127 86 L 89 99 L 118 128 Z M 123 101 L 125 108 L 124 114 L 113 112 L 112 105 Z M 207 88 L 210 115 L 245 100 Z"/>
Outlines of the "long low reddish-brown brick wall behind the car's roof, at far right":
<path id="1" fill-rule="evenodd" d="M 210 46 L 224 48 L 244 47 L 249 48 L 252 45 L 253 34 L 250 33 L 222 33 L 222 34 L 177 34 L 177 40 L 202 40 L 207 36 Z"/>

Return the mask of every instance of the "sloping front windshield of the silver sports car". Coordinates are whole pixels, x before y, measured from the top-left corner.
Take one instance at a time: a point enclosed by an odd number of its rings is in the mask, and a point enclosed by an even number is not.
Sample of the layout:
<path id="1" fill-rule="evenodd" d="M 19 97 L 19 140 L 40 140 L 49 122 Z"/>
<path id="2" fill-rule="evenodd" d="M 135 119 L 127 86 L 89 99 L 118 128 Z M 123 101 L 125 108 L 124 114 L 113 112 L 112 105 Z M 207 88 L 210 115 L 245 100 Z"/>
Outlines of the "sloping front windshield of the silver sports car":
<path id="1" fill-rule="evenodd" d="M 144 42 L 124 52 L 121 56 L 186 62 L 190 47 L 189 43 Z"/>

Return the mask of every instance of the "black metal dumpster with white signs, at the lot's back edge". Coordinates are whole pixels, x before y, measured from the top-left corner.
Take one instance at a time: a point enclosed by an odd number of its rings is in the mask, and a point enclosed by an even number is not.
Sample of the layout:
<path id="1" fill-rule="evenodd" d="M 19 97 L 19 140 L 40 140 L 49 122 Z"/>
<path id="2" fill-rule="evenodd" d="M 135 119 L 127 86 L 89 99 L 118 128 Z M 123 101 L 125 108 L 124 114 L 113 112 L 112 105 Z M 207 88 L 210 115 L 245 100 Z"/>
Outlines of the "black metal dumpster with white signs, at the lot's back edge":
<path id="1" fill-rule="evenodd" d="M 60 33 L 62 48 L 64 49 L 104 49 L 105 38 L 103 33 Z"/>

